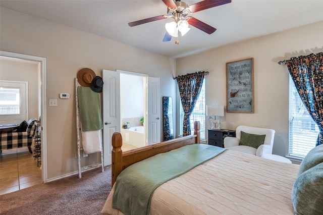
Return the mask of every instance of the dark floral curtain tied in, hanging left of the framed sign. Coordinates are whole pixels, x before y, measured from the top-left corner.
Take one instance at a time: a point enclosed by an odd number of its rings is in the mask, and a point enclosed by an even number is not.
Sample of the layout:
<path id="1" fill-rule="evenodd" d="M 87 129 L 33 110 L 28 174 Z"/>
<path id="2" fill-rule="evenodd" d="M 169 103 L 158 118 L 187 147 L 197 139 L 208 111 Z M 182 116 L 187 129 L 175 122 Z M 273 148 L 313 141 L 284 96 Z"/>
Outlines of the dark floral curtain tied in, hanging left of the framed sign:
<path id="1" fill-rule="evenodd" d="M 204 76 L 208 72 L 196 72 L 176 77 L 184 110 L 183 136 L 191 134 L 190 116 L 200 94 Z"/>

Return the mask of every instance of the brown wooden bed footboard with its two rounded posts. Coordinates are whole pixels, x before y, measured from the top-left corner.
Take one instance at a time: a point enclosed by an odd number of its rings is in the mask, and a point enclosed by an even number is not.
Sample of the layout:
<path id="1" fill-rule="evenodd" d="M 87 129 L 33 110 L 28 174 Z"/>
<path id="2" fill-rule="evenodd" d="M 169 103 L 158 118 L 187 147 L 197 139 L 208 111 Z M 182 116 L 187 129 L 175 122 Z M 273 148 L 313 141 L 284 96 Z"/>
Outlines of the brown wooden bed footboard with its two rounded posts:
<path id="1" fill-rule="evenodd" d="M 126 152 L 123 152 L 121 149 L 121 134 L 119 132 L 115 132 L 112 136 L 112 186 L 115 184 L 116 179 L 121 171 L 130 165 L 153 155 L 195 143 L 200 143 L 200 122 L 198 121 L 194 122 L 194 135 L 155 143 Z"/>

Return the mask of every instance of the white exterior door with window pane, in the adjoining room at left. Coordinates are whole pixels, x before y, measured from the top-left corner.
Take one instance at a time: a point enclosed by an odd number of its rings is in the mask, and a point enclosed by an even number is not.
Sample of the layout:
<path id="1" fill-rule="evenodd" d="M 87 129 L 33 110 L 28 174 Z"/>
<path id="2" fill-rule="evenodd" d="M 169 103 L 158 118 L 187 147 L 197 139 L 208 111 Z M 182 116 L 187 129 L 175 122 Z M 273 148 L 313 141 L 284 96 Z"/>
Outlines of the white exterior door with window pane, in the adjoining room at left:
<path id="1" fill-rule="evenodd" d="M 0 124 L 28 121 L 28 82 L 0 81 Z"/>

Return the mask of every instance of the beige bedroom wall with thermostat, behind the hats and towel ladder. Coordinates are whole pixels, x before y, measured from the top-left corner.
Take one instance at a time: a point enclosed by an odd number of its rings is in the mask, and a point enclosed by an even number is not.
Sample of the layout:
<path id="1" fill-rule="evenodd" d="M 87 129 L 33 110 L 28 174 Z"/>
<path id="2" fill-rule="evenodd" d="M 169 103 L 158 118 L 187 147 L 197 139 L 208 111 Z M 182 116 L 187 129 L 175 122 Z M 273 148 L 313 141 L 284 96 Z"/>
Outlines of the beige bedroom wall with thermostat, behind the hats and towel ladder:
<path id="1" fill-rule="evenodd" d="M 99 76 L 102 69 L 118 69 L 159 77 L 160 96 L 176 96 L 174 59 L 6 8 L 0 22 L 1 50 L 46 58 L 48 179 L 77 171 L 74 79 L 80 69 Z M 70 99 L 60 99 L 62 92 Z M 51 98 L 58 99 L 57 107 L 48 106 Z M 98 155 L 82 159 L 82 165 L 93 164 Z"/>

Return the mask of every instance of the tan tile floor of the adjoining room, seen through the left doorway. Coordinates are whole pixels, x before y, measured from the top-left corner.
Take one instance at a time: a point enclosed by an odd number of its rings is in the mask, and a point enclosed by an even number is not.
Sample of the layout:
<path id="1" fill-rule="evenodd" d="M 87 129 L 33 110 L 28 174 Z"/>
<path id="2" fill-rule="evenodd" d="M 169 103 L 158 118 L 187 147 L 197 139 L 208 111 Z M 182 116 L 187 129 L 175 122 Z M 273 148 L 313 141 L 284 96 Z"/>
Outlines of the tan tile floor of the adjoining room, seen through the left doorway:
<path id="1" fill-rule="evenodd" d="M 27 147 L 4 150 L 0 157 L 0 195 L 41 184 L 41 169 Z"/>

